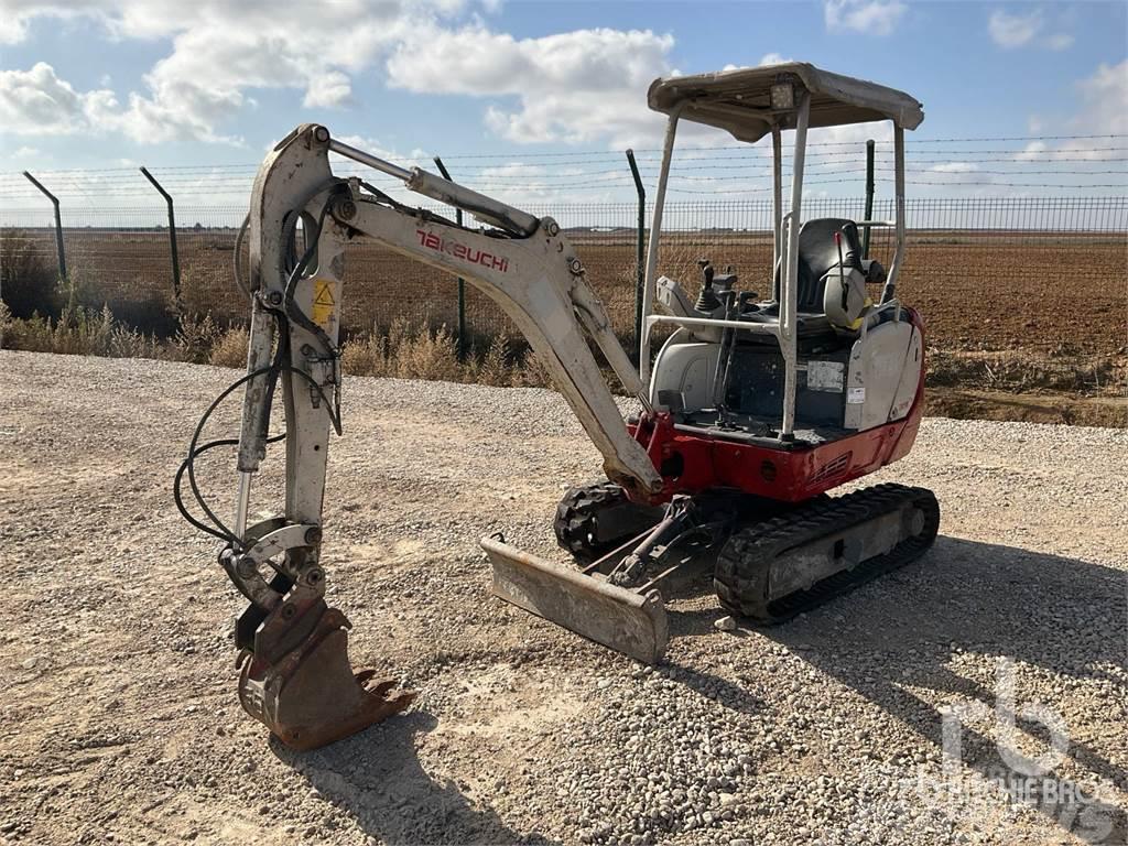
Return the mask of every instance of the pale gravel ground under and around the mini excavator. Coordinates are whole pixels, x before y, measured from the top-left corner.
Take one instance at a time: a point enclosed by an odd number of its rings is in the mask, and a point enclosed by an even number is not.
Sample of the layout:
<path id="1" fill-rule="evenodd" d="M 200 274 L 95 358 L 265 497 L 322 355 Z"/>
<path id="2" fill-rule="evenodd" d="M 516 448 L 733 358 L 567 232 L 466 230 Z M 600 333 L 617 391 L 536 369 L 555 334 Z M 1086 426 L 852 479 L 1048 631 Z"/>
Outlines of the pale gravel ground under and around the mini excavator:
<path id="1" fill-rule="evenodd" d="M 169 494 L 232 377 L 0 352 L 0 841 L 1125 843 L 1128 431 L 926 420 L 878 474 L 936 491 L 923 562 L 732 633 L 689 574 L 650 670 L 487 593 L 478 537 L 563 561 L 599 476 L 558 397 L 351 379 L 329 596 L 420 696 L 298 755 L 239 708 L 241 602 Z"/>

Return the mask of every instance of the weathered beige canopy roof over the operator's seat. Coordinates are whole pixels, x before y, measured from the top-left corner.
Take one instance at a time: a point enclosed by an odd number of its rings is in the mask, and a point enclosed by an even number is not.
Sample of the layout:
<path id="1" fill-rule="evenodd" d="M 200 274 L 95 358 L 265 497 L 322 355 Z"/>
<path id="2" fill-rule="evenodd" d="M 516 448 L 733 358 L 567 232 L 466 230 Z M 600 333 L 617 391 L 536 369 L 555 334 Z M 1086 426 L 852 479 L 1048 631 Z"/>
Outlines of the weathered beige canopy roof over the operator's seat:
<path id="1" fill-rule="evenodd" d="M 772 109 L 772 86 L 784 81 L 795 85 L 796 104 L 800 89 L 811 92 L 812 127 L 888 120 L 915 130 L 924 120 L 920 104 L 904 91 L 819 70 L 807 62 L 655 79 L 646 99 L 652 109 L 666 114 L 684 104 L 681 117 L 717 126 L 751 143 L 768 134 L 773 125 L 794 129 L 797 109 Z"/>

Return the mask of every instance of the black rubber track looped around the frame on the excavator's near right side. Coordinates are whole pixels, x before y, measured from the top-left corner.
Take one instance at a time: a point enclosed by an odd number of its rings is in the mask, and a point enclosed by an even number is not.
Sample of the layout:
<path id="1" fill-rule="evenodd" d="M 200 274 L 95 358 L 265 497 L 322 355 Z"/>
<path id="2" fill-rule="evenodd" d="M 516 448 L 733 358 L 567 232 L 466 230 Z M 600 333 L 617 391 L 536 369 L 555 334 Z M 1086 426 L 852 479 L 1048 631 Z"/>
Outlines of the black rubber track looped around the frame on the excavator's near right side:
<path id="1" fill-rule="evenodd" d="M 843 570 L 807 590 L 765 603 L 773 566 L 785 565 L 788 549 L 860 526 L 914 502 L 925 513 L 922 532 L 853 570 Z M 713 584 L 721 605 L 758 623 L 777 625 L 849 592 L 854 588 L 919 558 L 936 538 L 940 505 L 923 487 L 884 484 L 822 502 L 813 502 L 733 532 L 717 556 Z"/>

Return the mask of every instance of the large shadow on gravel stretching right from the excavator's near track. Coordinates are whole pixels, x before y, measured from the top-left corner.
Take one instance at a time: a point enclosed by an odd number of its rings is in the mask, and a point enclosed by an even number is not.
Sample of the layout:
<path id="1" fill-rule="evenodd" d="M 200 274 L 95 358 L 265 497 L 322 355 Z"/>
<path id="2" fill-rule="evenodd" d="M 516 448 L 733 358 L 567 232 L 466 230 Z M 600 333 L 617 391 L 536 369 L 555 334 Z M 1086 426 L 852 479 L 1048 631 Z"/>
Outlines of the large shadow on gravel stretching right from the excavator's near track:
<path id="1" fill-rule="evenodd" d="M 1103 669 L 1123 667 L 1126 660 L 1128 596 L 1122 571 L 941 537 L 922 562 L 884 576 L 880 585 L 861 588 L 761 634 L 848 685 L 937 751 L 943 749 L 943 715 L 911 688 L 940 691 L 948 702 L 954 695 L 953 704 L 962 706 L 967 717 L 959 723 L 949 717 L 949 731 L 954 726 L 960 733 L 960 759 L 993 784 L 1013 790 L 1013 779 L 1024 778 L 1010 766 L 1013 758 L 1007 763 L 996 746 L 997 723 L 1010 722 L 1037 738 L 1033 755 L 1050 750 L 1051 735 L 1023 693 L 1015 696 L 1012 688 L 1007 694 L 994 678 L 984 685 L 954 671 L 958 653 L 1011 659 L 1055 673 L 1064 688 L 1037 695 L 1055 711 L 1069 679 L 1100 678 L 1113 690 L 1123 690 L 1123 680 Z M 1076 737 L 1068 713 L 1061 716 L 1068 747 L 1057 766 L 1068 763 L 1085 772 L 1082 781 L 1090 786 L 1095 777 L 1128 790 L 1123 761 L 1103 757 Z M 1101 724 L 1099 714 L 1089 716 Z M 1107 719 L 1122 716 L 1110 713 Z M 1125 810 L 1093 800 L 1090 791 L 1056 768 L 1036 774 L 1020 790 L 1037 797 L 1030 804 L 1083 840 L 1126 843 Z M 1077 791 L 1087 800 L 1072 801 Z"/>

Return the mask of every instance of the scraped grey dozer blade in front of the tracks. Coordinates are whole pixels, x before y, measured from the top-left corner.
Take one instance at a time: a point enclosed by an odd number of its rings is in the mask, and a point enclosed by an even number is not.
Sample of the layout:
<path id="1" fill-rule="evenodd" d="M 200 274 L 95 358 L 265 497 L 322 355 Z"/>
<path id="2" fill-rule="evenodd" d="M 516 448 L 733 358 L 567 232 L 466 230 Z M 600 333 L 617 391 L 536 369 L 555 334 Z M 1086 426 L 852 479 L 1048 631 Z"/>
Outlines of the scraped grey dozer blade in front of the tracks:
<path id="1" fill-rule="evenodd" d="M 493 564 L 493 592 L 508 602 L 645 663 L 666 653 L 666 607 L 646 593 L 584 575 L 493 538 L 482 548 Z"/>

